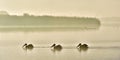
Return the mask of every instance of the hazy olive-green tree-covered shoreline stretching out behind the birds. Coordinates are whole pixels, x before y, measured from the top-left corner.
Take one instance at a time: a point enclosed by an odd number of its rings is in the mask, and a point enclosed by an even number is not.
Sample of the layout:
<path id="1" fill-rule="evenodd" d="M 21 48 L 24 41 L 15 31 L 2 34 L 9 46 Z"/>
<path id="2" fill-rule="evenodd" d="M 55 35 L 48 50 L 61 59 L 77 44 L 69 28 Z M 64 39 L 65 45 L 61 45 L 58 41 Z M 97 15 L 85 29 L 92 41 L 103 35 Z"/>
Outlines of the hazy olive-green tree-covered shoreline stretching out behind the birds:
<path id="1" fill-rule="evenodd" d="M 92 17 L 34 16 L 25 13 L 23 16 L 0 14 L 0 27 L 79 27 L 99 28 L 100 21 Z"/>

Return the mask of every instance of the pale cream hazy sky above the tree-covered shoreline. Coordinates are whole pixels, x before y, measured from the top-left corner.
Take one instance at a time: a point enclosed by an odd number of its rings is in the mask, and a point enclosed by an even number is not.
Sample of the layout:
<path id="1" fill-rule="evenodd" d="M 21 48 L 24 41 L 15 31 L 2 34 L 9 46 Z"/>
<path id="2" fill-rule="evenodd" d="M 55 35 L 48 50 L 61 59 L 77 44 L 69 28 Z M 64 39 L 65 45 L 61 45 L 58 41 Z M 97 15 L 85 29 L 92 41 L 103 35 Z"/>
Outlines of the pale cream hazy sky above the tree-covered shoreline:
<path id="1" fill-rule="evenodd" d="M 0 10 L 42 15 L 120 17 L 120 0 L 0 0 Z"/>

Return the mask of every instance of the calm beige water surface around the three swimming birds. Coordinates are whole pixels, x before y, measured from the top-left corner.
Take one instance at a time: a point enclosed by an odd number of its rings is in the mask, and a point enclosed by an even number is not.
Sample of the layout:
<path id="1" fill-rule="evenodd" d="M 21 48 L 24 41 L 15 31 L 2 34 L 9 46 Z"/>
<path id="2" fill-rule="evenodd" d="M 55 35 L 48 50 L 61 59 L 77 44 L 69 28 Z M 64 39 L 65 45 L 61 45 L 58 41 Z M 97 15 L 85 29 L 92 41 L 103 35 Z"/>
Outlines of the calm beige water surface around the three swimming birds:
<path id="1" fill-rule="evenodd" d="M 0 60 L 120 60 L 120 23 L 101 22 L 98 30 L 0 32 Z M 22 49 L 26 42 L 35 48 Z M 90 48 L 77 50 L 80 42 Z M 53 43 L 61 44 L 62 51 L 53 52 Z"/>

